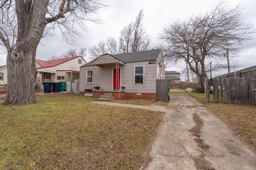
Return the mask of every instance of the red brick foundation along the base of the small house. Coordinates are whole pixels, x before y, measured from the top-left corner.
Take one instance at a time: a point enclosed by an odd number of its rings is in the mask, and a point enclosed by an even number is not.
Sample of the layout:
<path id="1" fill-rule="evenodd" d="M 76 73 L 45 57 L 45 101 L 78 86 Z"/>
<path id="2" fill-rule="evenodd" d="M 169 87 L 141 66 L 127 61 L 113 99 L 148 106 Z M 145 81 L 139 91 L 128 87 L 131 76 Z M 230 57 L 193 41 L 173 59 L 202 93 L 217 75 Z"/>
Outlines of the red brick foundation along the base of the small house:
<path id="1" fill-rule="evenodd" d="M 82 92 L 80 91 L 80 95 L 84 95 L 85 93 L 90 92 Z M 104 93 L 112 93 L 114 99 L 116 100 L 122 100 L 122 99 L 149 99 L 149 100 L 155 100 L 156 99 L 156 93 L 125 93 L 125 92 L 104 92 L 104 91 L 93 91 L 93 97 L 99 98 L 101 95 L 104 95 Z"/>

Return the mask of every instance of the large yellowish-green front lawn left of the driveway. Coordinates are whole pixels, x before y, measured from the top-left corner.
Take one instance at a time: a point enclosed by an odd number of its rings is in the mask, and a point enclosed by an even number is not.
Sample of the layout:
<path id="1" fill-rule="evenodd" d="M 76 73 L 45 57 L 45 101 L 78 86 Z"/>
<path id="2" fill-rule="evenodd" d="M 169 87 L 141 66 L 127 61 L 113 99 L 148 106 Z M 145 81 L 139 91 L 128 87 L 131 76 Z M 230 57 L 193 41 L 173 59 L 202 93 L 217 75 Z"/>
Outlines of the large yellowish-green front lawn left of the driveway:
<path id="1" fill-rule="evenodd" d="M 163 113 L 73 94 L 36 101 L 0 106 L 0 169 L 139 169 L 149 161 Z"/>

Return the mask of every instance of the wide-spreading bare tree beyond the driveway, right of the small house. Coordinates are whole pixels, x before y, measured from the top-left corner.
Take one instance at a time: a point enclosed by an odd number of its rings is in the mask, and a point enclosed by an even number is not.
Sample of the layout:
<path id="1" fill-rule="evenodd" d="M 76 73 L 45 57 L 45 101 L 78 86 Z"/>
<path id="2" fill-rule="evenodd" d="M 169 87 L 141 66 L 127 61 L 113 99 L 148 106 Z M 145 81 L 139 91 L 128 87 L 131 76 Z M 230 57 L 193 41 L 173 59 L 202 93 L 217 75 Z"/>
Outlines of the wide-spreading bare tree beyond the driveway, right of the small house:
<path id="1" fill-rule="evenodd" d="M 160 34 L 167 62 L 185 61 L 204 89 L 210 61 L 223 60 L 226 49 L 235 53 L 252 38 L 251 24 L 244 23 L 241 6 L 227 7 L 220 2 L 205 15 L 166 26 Z"/>

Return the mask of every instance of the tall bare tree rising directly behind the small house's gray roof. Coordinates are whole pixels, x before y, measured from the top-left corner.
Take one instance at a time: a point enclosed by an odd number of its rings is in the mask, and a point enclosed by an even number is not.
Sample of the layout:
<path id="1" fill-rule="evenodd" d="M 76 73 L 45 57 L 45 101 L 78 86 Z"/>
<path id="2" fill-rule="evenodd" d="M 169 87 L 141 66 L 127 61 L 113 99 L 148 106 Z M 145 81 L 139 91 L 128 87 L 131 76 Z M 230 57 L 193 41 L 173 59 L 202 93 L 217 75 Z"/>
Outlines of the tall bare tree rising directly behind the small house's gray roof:
<path id="1" fill-rule="evenodd" d="M 141 9 L 135 22 L 131 22 L 120 31 L 120 49 L 124 53 L 144 51 L 150 48 L 151 39 L 143 27 L 143 10 Z"/>

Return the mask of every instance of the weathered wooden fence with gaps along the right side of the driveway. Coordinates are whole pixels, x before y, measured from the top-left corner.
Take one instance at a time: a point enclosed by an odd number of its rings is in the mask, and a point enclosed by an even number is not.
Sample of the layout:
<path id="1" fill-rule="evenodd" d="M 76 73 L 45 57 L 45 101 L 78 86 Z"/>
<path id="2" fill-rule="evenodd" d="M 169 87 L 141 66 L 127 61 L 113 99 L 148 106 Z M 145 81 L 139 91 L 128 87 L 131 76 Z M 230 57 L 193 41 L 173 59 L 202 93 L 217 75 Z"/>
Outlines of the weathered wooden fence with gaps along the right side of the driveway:
<path id="1" fill-rule="evenodd" d="M 221 103 L 225 94 L 225 103 L 227 104 L 246 104 L 255 105 L 253 77 L 224 78 L 224 88 L 222 77 L 213 79 L 213 102 L 219 102 L 219 93 Z M 205 83 L 205 89 L 208 89 L 208 82 Z M 205 101 L 210 101 L 210 90 L 206 90 Z"/>

